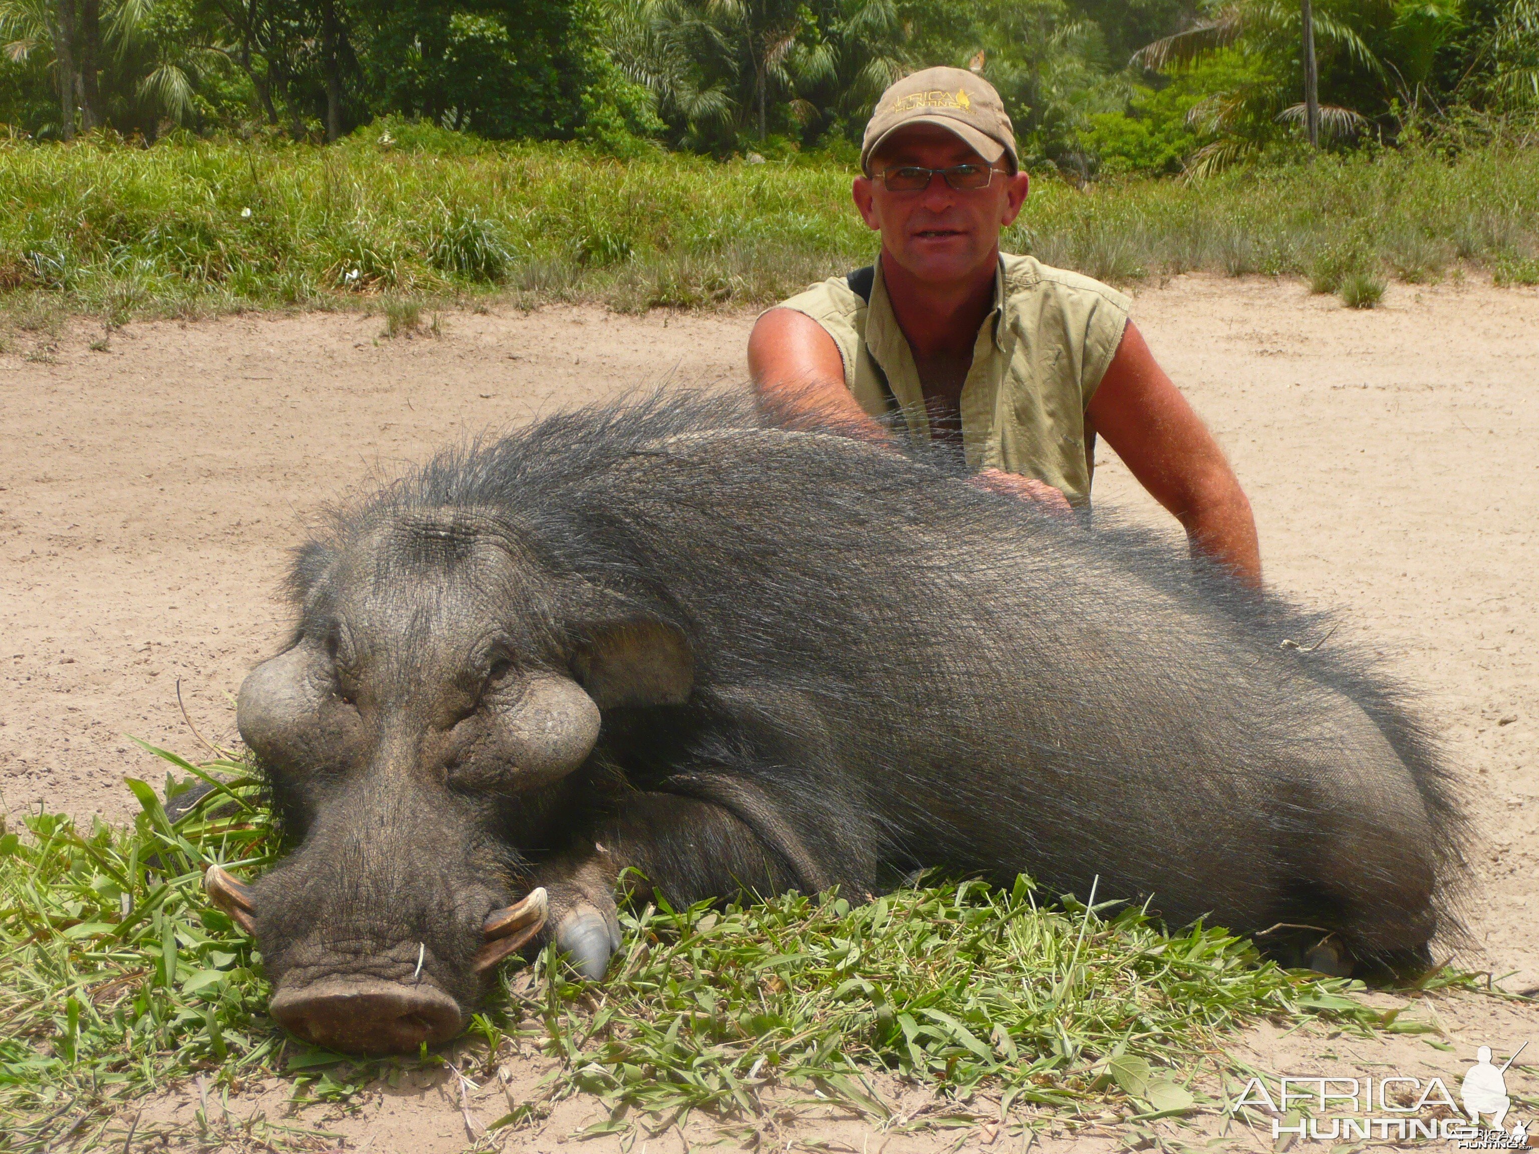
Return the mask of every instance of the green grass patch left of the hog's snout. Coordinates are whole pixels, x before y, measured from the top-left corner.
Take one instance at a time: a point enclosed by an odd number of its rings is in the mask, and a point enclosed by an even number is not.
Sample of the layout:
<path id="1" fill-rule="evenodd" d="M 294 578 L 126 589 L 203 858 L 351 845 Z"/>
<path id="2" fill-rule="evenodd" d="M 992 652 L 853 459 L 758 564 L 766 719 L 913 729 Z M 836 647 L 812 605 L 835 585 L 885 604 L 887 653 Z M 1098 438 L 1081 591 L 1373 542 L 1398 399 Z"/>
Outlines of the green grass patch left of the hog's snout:
<path id="1" fill-rule="evenodd" d="M 171 1079 L 217 1068 L 229 1085 L 277 1059 L 251 943 L 202 894 L 206 862 L 271 863 L 260 786 L 234 762 L 177 765 L 234 777 L 175 825 L 129 780 L 143 806 L 129 829 L 42 812 L 0 835 L 0 1112 L 14 1120 L 0 1149 L 100 1134 Z M 232 812 L 211 815 L 215 802 Z"/>

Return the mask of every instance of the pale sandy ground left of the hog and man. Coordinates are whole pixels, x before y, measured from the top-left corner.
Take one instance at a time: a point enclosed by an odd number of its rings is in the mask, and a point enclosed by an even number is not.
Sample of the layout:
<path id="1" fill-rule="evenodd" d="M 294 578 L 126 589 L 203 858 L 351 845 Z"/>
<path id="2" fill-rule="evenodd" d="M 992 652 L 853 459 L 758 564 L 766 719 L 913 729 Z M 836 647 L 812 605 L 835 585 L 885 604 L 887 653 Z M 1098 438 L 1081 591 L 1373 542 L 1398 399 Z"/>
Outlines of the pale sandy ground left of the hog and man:
<path id="1" fill-rule="evenodd" d="M 0 789 L 123 817 L 129 743 L 235 737 L 231 694 L 288 626 L 279 582 L 352 486 L 540 412 L 742 372 L 743 320 L 463 314 L 442 339 L 309 314 L 26 340 L 0 357 Z"/>

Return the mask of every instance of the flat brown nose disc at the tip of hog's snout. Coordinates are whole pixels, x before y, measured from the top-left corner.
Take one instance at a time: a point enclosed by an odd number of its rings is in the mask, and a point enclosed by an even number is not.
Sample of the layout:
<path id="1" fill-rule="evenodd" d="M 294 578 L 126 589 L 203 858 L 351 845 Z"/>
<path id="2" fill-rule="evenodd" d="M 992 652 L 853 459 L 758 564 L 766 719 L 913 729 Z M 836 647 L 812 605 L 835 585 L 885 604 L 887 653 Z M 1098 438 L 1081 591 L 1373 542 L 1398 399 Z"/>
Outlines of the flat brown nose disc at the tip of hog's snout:
<path id="1" fill-rule="evenodd" d="M 442 989 L 379 979 L 279 989 L 268 1009 L 289 1032 L 343 1054 L 414 1054 L 463 1025 L 459 1003 Z"/>

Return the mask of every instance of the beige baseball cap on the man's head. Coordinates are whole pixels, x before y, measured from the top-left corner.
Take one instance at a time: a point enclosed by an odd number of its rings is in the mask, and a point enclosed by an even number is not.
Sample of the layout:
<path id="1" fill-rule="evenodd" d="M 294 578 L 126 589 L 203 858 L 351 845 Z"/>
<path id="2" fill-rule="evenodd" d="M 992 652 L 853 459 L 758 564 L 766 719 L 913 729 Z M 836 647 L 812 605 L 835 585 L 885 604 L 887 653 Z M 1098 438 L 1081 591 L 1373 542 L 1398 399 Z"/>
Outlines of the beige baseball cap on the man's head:
<path id="1" fill-rule="evenodd" d="M 988 163 L 1008 155 L 1011 169 L 1020 168 L 1016 129 L 999 92 L 965 68 L 926 68 L 888 88 L 866 123 L 860 171 L 870 175 L 871 154 L 910 125 L 936 125 L 965 140 Z"/>

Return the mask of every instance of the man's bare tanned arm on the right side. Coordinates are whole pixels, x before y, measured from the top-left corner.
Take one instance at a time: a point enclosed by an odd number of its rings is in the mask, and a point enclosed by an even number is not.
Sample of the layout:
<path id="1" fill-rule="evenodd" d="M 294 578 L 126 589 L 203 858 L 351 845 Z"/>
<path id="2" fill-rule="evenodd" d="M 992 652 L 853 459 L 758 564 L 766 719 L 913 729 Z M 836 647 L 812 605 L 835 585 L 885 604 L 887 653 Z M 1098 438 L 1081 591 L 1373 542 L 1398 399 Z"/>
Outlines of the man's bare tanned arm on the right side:
<path id="1" fill-rule="evenodd" d="M 1131 320 L 1085 415 L 1194 549 L 1260 588 L 1256 519 L 1239 479 Z"/>

